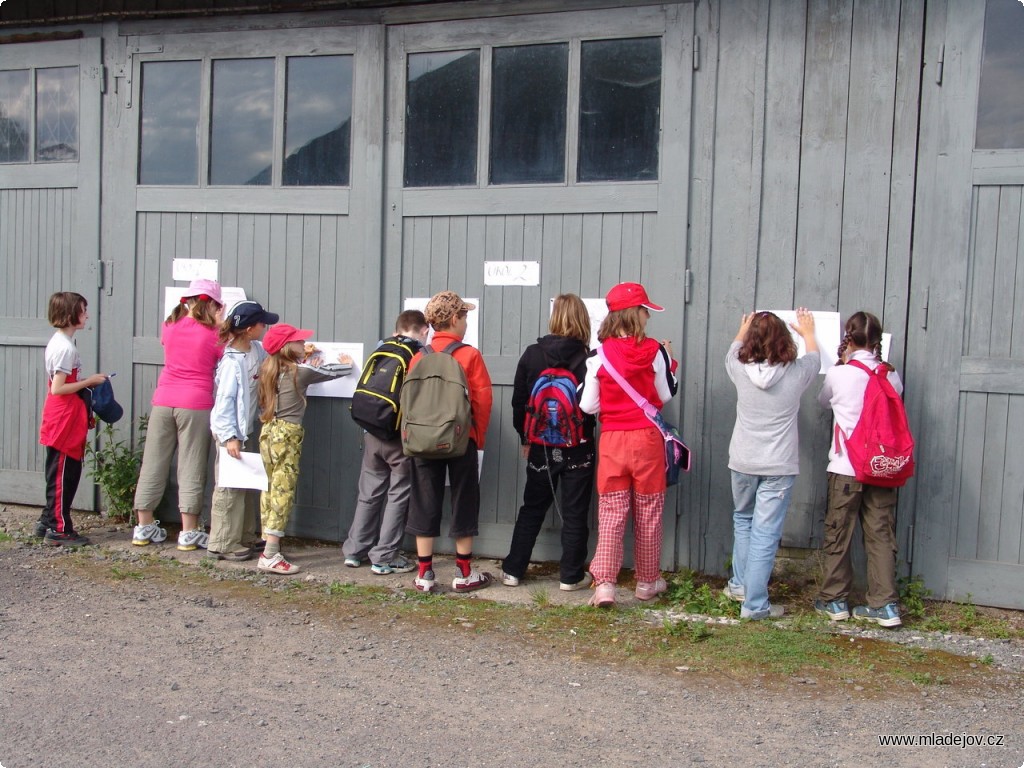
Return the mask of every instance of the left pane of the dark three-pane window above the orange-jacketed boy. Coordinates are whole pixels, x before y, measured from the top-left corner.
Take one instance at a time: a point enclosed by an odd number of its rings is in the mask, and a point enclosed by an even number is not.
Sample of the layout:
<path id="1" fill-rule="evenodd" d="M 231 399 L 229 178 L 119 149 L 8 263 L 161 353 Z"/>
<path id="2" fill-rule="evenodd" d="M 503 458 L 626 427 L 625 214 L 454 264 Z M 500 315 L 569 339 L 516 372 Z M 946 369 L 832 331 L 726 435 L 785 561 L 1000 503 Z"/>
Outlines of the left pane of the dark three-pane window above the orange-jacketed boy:
<path id="1" fill-rule="evenodd" d="M 409 56 L 406 186 L 476 183 L 479 92 L 479 51 Z"/>

